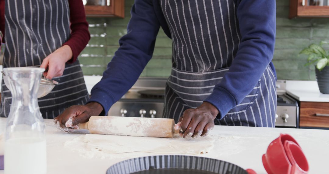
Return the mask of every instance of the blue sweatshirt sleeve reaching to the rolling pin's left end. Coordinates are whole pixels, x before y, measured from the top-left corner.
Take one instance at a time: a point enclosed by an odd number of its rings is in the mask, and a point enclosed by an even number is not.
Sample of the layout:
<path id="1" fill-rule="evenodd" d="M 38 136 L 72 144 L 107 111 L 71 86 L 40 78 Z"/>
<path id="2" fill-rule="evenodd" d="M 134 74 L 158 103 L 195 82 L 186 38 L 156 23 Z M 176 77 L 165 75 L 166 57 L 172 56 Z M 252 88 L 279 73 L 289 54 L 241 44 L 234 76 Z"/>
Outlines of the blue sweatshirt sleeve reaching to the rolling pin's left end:
<path id="1" fill-rule="evenodd" d="M 88 101 L 100 103 L 105 113 L 137 81 L 152 57 L 160 28 L 151 0 L 135 0 L 131 16 L 127 34 L 119 40 L 119 49 L 101 81 L 92 88 Z"/>

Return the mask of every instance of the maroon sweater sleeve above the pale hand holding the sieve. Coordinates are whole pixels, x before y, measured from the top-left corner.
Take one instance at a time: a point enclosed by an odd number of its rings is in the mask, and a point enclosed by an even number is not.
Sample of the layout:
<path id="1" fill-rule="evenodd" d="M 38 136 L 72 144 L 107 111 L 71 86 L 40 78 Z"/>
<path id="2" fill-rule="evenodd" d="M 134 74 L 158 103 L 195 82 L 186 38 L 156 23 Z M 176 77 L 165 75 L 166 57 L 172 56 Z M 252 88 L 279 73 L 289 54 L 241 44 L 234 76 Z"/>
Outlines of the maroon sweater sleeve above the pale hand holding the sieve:
<path id="1" fill-rule="evenodd" d="M 88 30 L 88 22 L 86 20 L 85 7 L 83 6 L 82 1 L 69 0 L 68 2 L 70 6 L 71 35 L 68 41 L 63 45 L 71 47 L 73 56 L 68 63 L 73 63 L 88 44 L 90 33 Z"/>

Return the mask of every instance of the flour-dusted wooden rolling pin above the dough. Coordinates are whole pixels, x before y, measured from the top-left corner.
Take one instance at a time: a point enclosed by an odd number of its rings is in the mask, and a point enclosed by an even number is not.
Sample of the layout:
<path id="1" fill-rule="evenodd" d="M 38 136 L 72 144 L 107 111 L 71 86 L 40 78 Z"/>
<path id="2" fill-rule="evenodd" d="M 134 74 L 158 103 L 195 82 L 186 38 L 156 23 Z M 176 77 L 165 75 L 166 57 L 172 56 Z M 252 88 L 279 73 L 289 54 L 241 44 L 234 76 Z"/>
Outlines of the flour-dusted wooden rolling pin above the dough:
<path id="1" fill-rule="evenodd" d="M 167 118 L 91 116 L 88 122 L 78 126 L 92 134 L 163 138 L 172 138 L 175 134 L 175 121 Z"/>

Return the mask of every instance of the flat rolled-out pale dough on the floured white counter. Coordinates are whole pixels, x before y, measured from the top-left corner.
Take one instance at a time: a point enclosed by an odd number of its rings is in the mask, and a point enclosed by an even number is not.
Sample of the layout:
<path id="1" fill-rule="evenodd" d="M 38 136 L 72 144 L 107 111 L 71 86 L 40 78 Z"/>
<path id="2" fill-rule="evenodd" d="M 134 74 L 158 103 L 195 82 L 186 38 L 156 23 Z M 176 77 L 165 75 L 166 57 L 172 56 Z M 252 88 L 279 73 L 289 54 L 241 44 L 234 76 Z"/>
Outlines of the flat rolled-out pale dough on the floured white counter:
<path id="1" fill-rule="evenodd" d="M 102 151 L 108 154 L 123 154 L 131 152 L 201 154 L 214 148 L 211 137 L 174 138 L 134 137 L 120 135 L 86 134 L 66 141 L 64 147 L 84 148 L 87 151 Z"/>

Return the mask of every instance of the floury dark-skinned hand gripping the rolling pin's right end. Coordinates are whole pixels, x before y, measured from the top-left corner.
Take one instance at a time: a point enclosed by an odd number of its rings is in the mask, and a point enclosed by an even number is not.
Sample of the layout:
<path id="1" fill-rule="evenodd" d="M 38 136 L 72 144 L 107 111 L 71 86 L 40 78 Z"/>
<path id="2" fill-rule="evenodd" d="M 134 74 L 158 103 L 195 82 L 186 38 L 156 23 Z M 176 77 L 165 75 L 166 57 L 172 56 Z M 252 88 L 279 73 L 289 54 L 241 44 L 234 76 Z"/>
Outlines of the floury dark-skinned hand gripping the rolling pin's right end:
<path id="1" fill-rule="evenodd" d="M 185 110 L 180 121 L 175 125 L 175 129 L 180 127 L 179 134 L 184 138 L 206 136 L 214 128 L 214 120 L 218 112 L 214 105 L 203 102 L 195 109 Z"/>

